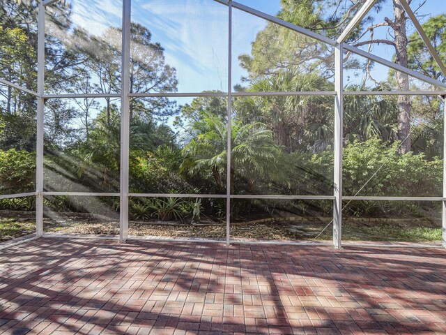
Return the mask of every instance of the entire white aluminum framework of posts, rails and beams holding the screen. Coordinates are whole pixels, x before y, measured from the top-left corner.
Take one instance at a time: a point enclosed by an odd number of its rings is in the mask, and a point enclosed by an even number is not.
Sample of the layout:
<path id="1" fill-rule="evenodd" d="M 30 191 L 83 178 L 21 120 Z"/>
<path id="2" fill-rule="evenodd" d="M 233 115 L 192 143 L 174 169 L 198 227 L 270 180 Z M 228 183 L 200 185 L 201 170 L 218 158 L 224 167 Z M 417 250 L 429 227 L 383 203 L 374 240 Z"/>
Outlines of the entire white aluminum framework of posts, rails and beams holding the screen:
<path id="1" fill-rule="evenodd" d="M 327 245 L 327 242 L 300 242 L 300 241 L 240 241 L 238 239 L 230 238 L 231 228 L 231 199 L 271 199 L 271 200 L 332 200 L 333 201 L 333 245 L 336 248 L 341 248 L 341 227 L 342 227 L 342 201 L 343 200 L 376 200 L 376 201 L 441 201 L 443 203 L 443 234 L 442 234 L 442 246 L 446 248 L 446 159 L 443 166 L 443 197 L 385 197 L 385 196 L 346 196 L 342 195 L 342 148 L 343 148 L 343 116 L 344 116 L 344 96 L 394 96 L 394 95 L 406 95 L 406 96 L 440 96 L 445 101 L 445 114 L 446 114 L 446 84 L 438 80 L 434 80 L 431 77 L 427 77 L 416 71 L 404 68 L 398 64 L 394 64 L 391 61 L 377 57 L 374 54 L 360 50 L 357 47 L 348 45 L 345 41 L 348 36 L 354 31 L 357 24 L 360 23 L 362 18 L 369 13 L 369 10 L 373 8 L 376 0 L 367 0 L 362 8 L 358 10 L 357 14 L 353 17 L 351 22 L 347 25 L 346 29 L 341 33 L 341 36 L 337 40 L 332 40 L 320 34 L 316 34 L 313 31 L 298 27 L 295 24 L 291 24 L 284 20 L 280 20 L 277 17 L 268 15 L 259 10 L 245 6 L 242 3 L 238 3 L 232 0 L 213 0 L 218 3 L 222 3 L 228 6 L 228 89 L 227 92 L 190 92 L 190 93 L 178 93 L 178 92 L 153 92 L 147 94 L 130 94 L 130 22 L 131 22 L 131 1 L 123 0 L 123 44 L 122 44 L 122 73 L 123 81 L 121 87 L 121 93 L 118 94 L 45 94 L 45 6 L 50 6 L 56 3 L 58 0 L 40 0 L 38 4 L 38 82 L 37 92 L 31 91 L 24 87 L 20 87 L 13 82 L 7 80 L 1 80 L 0 84 L 13 87 L 20 91 L 24 91 L 27 94 L 32 94 L 38 97 L 37 107 L 37 148 L 36 148 L 36 192 L 19 193 L 13 195 L 0 195 L 1 199 L 7 198 L 22 198 L 27 196 L 36 196 L 36 237 L 54 237 L 52 235 L 43 234 L 43 198 L 47 195 L 69 195 L 69 196 L 95 196 L 95 197 L 119 197 L 121 204 L 120 211 L 120 234 L 119 241 L 125 242 L 128 237 L 128 200 L 130 197 L 134 198 L 222 198 L 226 199 L 226 245 L 229 244 L 290 244 L 290 245 Z M 417 31 L 420 33 L 422 40 L 426 44 L 429 52 L 431 52 L 433 59 L 435 59 L 446 75 L 446 67 L 441 61 L 438 53 L 431 45 L 429 38 L 427 38 L 420 22 L 417 21 L 415 14 L 410 9 L 406 0 L 400 0 L 403 8 L 408 13 L 408 17 L 412 20 Z M 314 38 L 322 43 L 326 43 L 334 47 L 335 54 L 335 89 L 334 91 L 280 91 L 280 92 L 236 92 L 232 89 L 232 15 L 233 8 L 242 10 L 245 13 L 260 17 L 263 20 L 279 24 L 282 27 L 291 29 L 299 34 Z M 343 87 L 343 54 L 344 51 L 352 52 L 365 57 L 371 61 L 376 61 L 379 64 L 383 64 L 387 68 L 406 73 L 412 77 L 427 82 L 440 89 L 441 91 L 344 91 Z M 199 97 L 199 96 L 215 96 L 215 97 L 227 97 L 228 98 L 228 133 L 227 133 L 227 171 L 231 169 L 231 114 L 232 114 L 232 97 L 236 96 L 334 96 L 334 187 L 333 195 L 237 195 L 231 194 L 231 174 L 227 173 L 226 177 L 226 193 L 225 194 L 174 194 L 174 193 L 129 193 L 129 147 L 130 147 L 130 115 L 129 106 L 130 98 L 146 98 L 146 97 Z M 119 193 L 89 193 L 89 192 L 53 192 L 43 191 L 43 116 L 45 99 L 51 98 L 119 98 L 121 99 L 121 171 L 120 171 L 120 191 Z M 446 118 L 445 118 L 445 133 L 446 139 Z M 446 141 L 444 141 L 444 156 L 446 157 Z M 76 238 L 88 238 L 88 237 L 76 237 Z M 144 238 L 130 237 L 132 239 Z M 105 239 L 117 239 L 113 237 L 105 237 Z M 30 241 L 32 239 L 27 239 Z M 153 237 L 146 239 L 153 241 Z M 169 239 L 160 238 L 159 241 L 209 241 L 209 242 L 221 242 L 218 240 L 203 240 L 203 239 Z M 24 243 L 26 241 L 19 241 L 17 244 Z M 13 245 L 17 245 L 13 244 Z M 396 244 L 352 244 L 346 242 L 346 246 L 398 246 Z M 438 247 L 420 244 L 417 246 L 423 247 Z M 410 246 L 408 246 L 410 247 Z M 413 247 L 413 246 L 412 246 Z"/>

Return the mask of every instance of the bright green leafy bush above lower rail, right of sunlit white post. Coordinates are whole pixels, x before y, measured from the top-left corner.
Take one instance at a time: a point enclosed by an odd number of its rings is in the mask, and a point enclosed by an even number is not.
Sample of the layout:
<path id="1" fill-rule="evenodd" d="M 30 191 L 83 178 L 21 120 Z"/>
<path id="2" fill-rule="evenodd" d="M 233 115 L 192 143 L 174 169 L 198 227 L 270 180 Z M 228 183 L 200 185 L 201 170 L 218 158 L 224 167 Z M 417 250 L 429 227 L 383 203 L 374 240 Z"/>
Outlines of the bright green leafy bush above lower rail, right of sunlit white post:
<path id="1" fill-rule="evenodd" d="M 373 137 L 344 148 L 344 194 L 387 196 L 441 195 L 443 161 L 427 161 L 424 154 L 397 153 L 398 142 L 386 144 Z M 364 188 L 362 186 L 371 178 Z"/>

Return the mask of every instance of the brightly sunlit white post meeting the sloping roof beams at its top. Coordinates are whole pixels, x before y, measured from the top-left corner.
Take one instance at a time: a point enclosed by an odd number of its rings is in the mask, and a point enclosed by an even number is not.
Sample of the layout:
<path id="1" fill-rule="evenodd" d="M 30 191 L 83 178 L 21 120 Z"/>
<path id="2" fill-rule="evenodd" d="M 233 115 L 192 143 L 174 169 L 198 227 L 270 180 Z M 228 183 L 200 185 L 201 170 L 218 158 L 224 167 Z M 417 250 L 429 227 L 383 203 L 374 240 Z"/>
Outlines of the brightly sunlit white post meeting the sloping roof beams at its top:
<path id="1" fill-rule="evenodd" d="M 333 245 L 341 248 L 342 236 L 342 147 L 344 144 L 344 49 L 342 43 L 334 49 L 334 205 Z"/>

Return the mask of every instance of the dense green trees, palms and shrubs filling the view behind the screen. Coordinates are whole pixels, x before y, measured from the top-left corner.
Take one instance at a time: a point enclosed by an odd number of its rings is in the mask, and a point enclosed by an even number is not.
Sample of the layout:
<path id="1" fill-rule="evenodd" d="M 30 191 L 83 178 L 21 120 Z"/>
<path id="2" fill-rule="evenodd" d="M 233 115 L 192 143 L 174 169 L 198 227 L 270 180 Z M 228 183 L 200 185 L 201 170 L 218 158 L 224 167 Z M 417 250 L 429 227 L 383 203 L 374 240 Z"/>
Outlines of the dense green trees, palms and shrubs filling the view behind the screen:
<path id="1" fill-rule="evenodd" d="M 335 31 L 330 26 L 346 17 L 340 15 L 328 20 L 316 6 L 318 2 L 321 1 L 282 1 L 279 17 L 331 36 Z M 0 1 L 0 76 L 34 90 L 36 6 L 37 1 Z M 352 10 L 350 15 L 354 13 Z M 109 28 L 102 36 L 91 36 L 75 27 L 72 8 L 65 2 L 52 6 L 47 16 L 48 91 L 76 94 L 120 91 L 121 30 Z M 445 29 L 438 22 L 445 20 L 440 15 L 424 24 L 429 38 L 441 50 L 445 45 Z M 358 38 L 367 27 L 367 23 L 360 27 L 351 40 L 360 43 Z M 151 31 L 132 23 L 131 38 L 132 93 L 177 91 L 176 69 L 166 63 L 163 47 L 152 40 Z M 422 55 L 423 72 L 445 81 L 420 39 L 412 36 L 408 40 L 408 66 L 420 68 L 420 57 L 416 55 Z M 299 62 L 293 61 L 297 52 Z M 240 78 L 235 88 L 332 90 L 332 52 L 326 45 L 268 24 L 252 43 L 252 54 L 240 55 L 240 66 L 245 68 L 247 76 Z M 364 68 L 364 64 L 354 59 L 347 59 L 346 66 L 351 70 Z M 370 66 L 367 64 L 367 68 Z M 388 79 L 375 86 L 368 78 L 362 85 L 347 89 L 386 90 L 399 87 L 399 80 L 399 74 L 390 71 Z M 34 191 L 36 100 L 3 85 L 0 95 L 0 194 Z M 234 99 L 232 165 L 227 171 L 226 98 L 200 97 L 183 105 L 167 98 L 134 98 L 130 104 L 130 192 L 223 194 L 229 173 L 233 194 L 332 195 L 333 103 L 333 98 L 326 96 Z M 407 105 L 410 120 L 403 128 L 409 126 L 409 138 L 401 137 L 401 111 L 407 112 Z M 346 96 L 344 194 L 440 196 L 442 109 L 436 98 L 417 97 L 402 102 L 394 96 Z M 45 190 L 118 192 L 120 121 L 119 102 L 113 98 L 48 99 Z M 102 201 L 118 209 L 113 198 Z M 100 211 L 68 197 L 48 197 L 45 203 L 59 211 Z M 161 221 L 181 221 L 192 216 L 195 205 L 194 200 L 179 198 L 136 198 L 130 203 L 130 211 L 139 219 L 155 216 Z M 224 200 L 203 199 L 200 206 L 208 217 L 225 215 Z M 404 206 L 353 202 L 346 213 L 397 215 L 408 210 Z M 0 207 L 29 210 L 33 204 L 1 200 Z M 409 210 L 418 214 L 422 206 L 415 205 Z M 330 214 L 331 204 L 237 201 L 232 211 L 236 220 L 247 219 L 253 213 L 271 216 L 274 211 L 324 216 Z"/>

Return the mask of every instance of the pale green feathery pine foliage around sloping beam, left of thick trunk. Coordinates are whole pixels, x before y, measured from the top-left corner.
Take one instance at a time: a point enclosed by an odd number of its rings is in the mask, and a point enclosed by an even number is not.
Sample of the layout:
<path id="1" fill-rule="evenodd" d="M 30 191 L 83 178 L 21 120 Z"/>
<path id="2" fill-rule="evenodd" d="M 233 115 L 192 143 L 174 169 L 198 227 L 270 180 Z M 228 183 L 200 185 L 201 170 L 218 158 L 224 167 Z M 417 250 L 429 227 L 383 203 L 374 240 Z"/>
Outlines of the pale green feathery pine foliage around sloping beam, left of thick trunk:
<path id="1" fill-rule="evenodd" d="M 276 16 L 318 34 L 337 38 L 339 31 L 348 24 L 346 15 L 350 15 L 360 7 L 360 3 L 341 6 L 341 2 L 344 0 L 281 0 L 281 9 Z M 333 7 L 347 8 L 349 6 L 351 8 L 343 13 L 344 15 L 339 15 L 336 10 L 329 17 L 325 13 Z M 356 33 L 353 34 L 350 39 L 356 35 Z M 242 78 L 242 82 L 255 80 L 259 76 L 274 75 L 277 71 L 289 68 L 302 73 L 331 78 L 334 75 L 333 54 L 334 49 L 325 43 L 275 23 L 268 23 L 252 43 L 251 54 L 242 54 L 238 57 L 240 66 L 248 72 L 248 76 Z M 344 66 L 360 68 L 357 61 L 350 58 L 345 59 Z"/>

